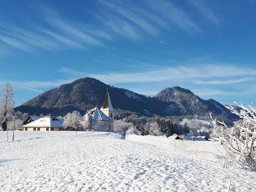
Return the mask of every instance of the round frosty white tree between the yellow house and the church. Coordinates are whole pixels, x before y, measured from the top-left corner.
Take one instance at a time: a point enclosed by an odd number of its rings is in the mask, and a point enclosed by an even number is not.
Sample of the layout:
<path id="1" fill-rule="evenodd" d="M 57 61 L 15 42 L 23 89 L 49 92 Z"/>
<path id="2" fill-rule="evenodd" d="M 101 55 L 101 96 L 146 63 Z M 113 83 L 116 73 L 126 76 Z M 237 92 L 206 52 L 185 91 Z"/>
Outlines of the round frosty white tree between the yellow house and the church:
<path id="1" fill-rule="evenodd" d="M 77 129 L 81 127 L 81 115 L 79 111 L 72 111 L 72 113 L 68 113 L 64 116 L 63 126 L 67 129 Z"/>

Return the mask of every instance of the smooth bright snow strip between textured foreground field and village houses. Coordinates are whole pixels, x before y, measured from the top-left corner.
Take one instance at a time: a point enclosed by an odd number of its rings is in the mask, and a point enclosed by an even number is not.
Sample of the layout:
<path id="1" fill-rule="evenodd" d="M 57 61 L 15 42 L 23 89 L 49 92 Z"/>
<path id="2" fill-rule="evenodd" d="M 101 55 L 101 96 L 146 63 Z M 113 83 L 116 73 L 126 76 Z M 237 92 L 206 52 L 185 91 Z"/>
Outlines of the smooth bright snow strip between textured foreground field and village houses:
<path id="1" fill-rule="evenodd" d="M 218 161 L 218 156 L 224 153 L 218 141 L 186 141 L 165 138 L 164 136 L 138 136 L 127 134 L 125 140 L 147 143 L 163 148 L 180 156 L 198 157 L 209 161 Z"/>

